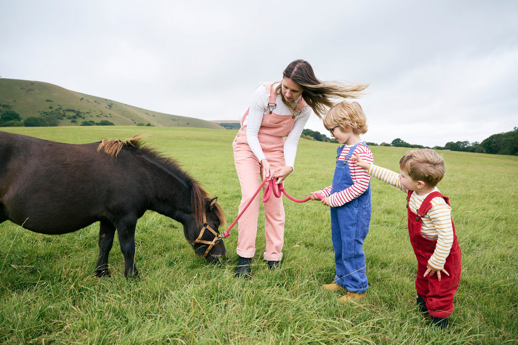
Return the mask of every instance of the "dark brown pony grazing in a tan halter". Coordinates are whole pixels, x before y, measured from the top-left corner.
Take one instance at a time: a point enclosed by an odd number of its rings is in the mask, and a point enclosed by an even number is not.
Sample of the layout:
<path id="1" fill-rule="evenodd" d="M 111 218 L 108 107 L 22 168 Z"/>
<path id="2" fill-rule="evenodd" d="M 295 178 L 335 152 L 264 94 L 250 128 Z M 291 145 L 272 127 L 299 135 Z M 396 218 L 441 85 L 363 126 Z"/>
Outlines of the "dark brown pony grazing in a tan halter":
<path id="1" fill-rule="evenodd" d="M 217 198 L 174 160 L 142 146 L 141 136 L 77 145 L 0 131 L 0 223 L 53 235 L 99 221 L 96 276 L 109 276 L 116 229 L 124 275 L 138 275 L 135 226 L 148 209 L 181 222 L 198 256 L 226 255 Z"/>

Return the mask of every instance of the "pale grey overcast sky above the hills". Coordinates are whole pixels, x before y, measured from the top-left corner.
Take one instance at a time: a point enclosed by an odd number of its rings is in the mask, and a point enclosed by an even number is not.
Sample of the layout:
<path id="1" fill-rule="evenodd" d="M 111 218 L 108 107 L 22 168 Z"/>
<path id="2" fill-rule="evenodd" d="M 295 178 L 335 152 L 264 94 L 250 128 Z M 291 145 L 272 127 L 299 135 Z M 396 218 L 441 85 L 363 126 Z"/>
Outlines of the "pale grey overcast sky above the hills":
<path id="1" fill-rule="evenodd" d="M 518 1 L 0 0 L 0 76 L 238 119 L 297 58 L 371 83 L 363 139 L 444 146 L 518 126 Z M 314 116 L 306 128 L 327 133 Z"/>

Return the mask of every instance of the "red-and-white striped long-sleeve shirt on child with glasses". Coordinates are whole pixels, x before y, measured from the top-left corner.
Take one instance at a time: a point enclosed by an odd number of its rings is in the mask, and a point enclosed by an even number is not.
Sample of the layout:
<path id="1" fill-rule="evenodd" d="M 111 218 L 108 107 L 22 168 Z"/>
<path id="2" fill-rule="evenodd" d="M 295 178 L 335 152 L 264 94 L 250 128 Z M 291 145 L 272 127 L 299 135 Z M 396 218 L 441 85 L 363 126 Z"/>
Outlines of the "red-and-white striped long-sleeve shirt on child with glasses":
<path id="1" fill-rule="evenodd" d="M 338 156 L 338 161 L 345 161 L 346 156 L 349 154 L 349 150 L 352 146 L 344 145 L 342 152 Z M 372 152 L 365 145 L 358 145 L 354 149 L 353 155 L 356 154 L 358 157 L 362 158 L 367 163 L 371 164 L 373 161 Z M 353 180 L 353 184 L 341 191 L 331 194 L 331 189 L 333 185 L 320 190 L 320 193 L 325 197 L 329 197 L 329 203 L 333 207 L 342 206 L 353 199 L 361 196 L 367 188 L 369 188 L 370 175 L 367 173 L 367 170 L 361 168 L 354 161 L 349 160 L 349 171 L 351 173 L 351 178 Z"/>

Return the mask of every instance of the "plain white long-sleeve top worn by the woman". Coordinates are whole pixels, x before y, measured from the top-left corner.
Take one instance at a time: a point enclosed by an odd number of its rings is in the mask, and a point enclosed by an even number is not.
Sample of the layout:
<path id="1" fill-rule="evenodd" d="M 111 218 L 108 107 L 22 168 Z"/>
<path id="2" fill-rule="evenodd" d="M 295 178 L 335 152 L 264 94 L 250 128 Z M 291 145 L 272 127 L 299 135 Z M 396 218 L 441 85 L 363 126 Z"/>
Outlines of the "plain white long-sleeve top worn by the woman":
<path id="1" fill-rule="evenodd" d="M 296 103 L 298 103 L 301 98 L 302 96 L 300 96 L 296 100 Z M 263 153 L 263 149 L 261 148 L 261 144 L 259 143 L 259 140 L 257 138 L 257 133 L 259 132 L 259 128 L 261 128 L 263 116 L 268 110 L 269 99 L 270 91 L 268 89 L 267 84 L 259 84 L 259 86 L 257 86 L 252 95 L 252 103 L 250 104 L 248 116 L 243 123 L 243 126 L 247 125 L 248 145 L 250 146 L 250 149 L 259 161 L 266 158 Z M 277 107 L 274 110 L 276 114 L 292 115 L 290 109 L 286 106 L 286 104 L 282 102 L 281 95 L 277 95 L 275 102 L 277 103 Z M 302 112 L 295 118 L 295 124 L 293 125 L 293 129 L 286 137 L 286 140 L 284 142 L 284 161 L 287 167 L 294 168 L 298 140 L 300 139 L 300 134 L 302 134 L 304 126 L 308 122 L 309 116 L 312 112 L 313 111 L 310 107 L 304 107 L 302 109 Z"/>

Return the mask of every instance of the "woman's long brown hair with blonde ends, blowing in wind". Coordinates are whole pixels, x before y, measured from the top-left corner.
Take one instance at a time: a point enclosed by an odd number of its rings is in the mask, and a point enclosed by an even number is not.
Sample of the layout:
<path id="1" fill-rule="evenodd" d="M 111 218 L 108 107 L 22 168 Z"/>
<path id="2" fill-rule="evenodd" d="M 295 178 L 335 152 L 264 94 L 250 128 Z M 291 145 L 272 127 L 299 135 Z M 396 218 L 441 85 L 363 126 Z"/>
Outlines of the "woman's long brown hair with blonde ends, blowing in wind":
<path id="1" fill-rule="evenodd" d="M 323 118 L 327 110 L 334 106 L 332 99 L 358 98 L 369 84 L 344 84 L 338 81 L 321 81 L 316 78 L 311 65 L 302 59 L 291 62 L 282 72 L 283 78 L 290 78 L 303 88 L 302 98 L 319 118 Z M 284 99 L 281 82 L 276 87 L 276 93 L 282 97 L 282 102 L 289 108 L 294 108 Z"/>

